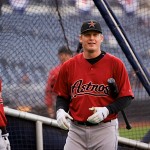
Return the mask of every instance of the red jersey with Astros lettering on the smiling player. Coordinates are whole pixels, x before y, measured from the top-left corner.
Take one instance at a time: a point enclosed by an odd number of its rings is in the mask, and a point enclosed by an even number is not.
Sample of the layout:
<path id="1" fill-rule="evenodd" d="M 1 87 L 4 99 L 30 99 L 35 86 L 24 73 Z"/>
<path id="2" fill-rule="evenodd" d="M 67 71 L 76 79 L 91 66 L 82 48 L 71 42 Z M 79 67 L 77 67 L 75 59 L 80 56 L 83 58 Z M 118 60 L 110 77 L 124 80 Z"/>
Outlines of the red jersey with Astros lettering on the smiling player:
<path id="1" fill-rule="evenodd" d="M 109 95 L 107 80 L 114 78 L 119 97 L 132 96 L 128 74 L 123 62 L 106 53 L 95 64 L 90 64 L 83 54 L 78 54 L 63 64 L 54 91 L 66 99 L 71 97 L 69 113 L 77 121 L 86 121 L 93 114 L 91 107 L 104 107 L 115 101 Z M 115 119 L 109 115 L 105 121 Z"/>

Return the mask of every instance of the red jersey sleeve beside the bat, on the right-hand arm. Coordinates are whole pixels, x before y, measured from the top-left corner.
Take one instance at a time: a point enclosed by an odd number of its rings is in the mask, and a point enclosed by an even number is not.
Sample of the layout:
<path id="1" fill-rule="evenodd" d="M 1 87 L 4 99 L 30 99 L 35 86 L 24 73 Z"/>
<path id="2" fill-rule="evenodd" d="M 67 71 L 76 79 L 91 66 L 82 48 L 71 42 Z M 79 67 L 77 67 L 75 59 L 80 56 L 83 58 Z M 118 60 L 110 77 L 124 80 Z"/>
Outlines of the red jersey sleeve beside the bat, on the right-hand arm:
<path id="1" fill-rule="evenodd" d="M 128 73 L 126 70 L 126 67 L 124 63 L 118 59 L 118 61 L 114 61 L 116 66 L 114 68 L 114 78 L 116 80 L 118 90 L 119 90 L 119 96 L 118 97 L 124 97 L 124 96 L 131 96 L 134 97 L 131 85 L 130 85 L 130 80 L 128 77 Z M 120 71 L 120 72 L 118 72 Z"/>

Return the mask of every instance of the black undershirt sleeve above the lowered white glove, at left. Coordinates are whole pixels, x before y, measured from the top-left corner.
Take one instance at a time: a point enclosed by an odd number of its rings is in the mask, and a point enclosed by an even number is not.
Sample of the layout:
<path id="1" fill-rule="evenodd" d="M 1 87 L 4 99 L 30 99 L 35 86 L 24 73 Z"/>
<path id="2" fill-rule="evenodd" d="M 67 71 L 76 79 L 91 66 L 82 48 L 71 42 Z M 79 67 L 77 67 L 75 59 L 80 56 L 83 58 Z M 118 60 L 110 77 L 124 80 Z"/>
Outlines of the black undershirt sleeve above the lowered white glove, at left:
<path id="1" fill-rule="evenodd" d="M 57 96 L 56 99 L 56 111 L 58 109 L 64 109 L 66 112 L 69 111 L 70 99 L 65 99 L 62 96 Z"/>

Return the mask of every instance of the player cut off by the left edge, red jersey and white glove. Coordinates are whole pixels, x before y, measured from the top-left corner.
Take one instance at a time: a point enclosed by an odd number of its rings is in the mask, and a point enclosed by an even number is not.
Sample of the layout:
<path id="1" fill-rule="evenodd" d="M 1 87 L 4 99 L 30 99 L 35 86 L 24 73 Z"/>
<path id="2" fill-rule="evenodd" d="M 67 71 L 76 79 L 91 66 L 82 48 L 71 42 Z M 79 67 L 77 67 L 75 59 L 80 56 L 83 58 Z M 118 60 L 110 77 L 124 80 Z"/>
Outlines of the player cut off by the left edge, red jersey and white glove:
<path id="1" fill-rule="evenodd" d="M 8 139 L 9 134 L 6 130 L 7 119 L 4 113 L 1 89 L 0 80 L 0 150 L 10 150 L 10 142 Z"/>

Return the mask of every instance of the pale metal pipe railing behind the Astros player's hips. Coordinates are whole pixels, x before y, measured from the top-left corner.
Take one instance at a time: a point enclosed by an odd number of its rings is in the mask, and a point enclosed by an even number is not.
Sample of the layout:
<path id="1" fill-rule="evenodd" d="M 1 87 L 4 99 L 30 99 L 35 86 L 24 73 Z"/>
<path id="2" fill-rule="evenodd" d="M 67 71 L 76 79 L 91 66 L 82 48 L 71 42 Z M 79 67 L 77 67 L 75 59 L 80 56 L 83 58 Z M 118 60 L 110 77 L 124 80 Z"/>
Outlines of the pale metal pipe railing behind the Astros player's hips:
<path id="1" fill-rule="evenodd" d="M 37 150 L 43 150 L 43 130 L 42 126 L 43 124 L 58 127 L 57 121 L 55 119 L 31 114 L 28 112 L 18 111 L 15 109 L 11 109 L 8 107 L 4 107 L 4 111 L 7 115 L 12 117 L 18 117 L 25 120 L 35 121 L 36 122 L 36 147 Z M 146 144 L 140 141 L 127 139 L 124 137 L 118 137 L 118 142 L 121 144 L 125 144 L 134 148 L 139 148 L 142 150 L 150 150 L 150 144 Z"/>

